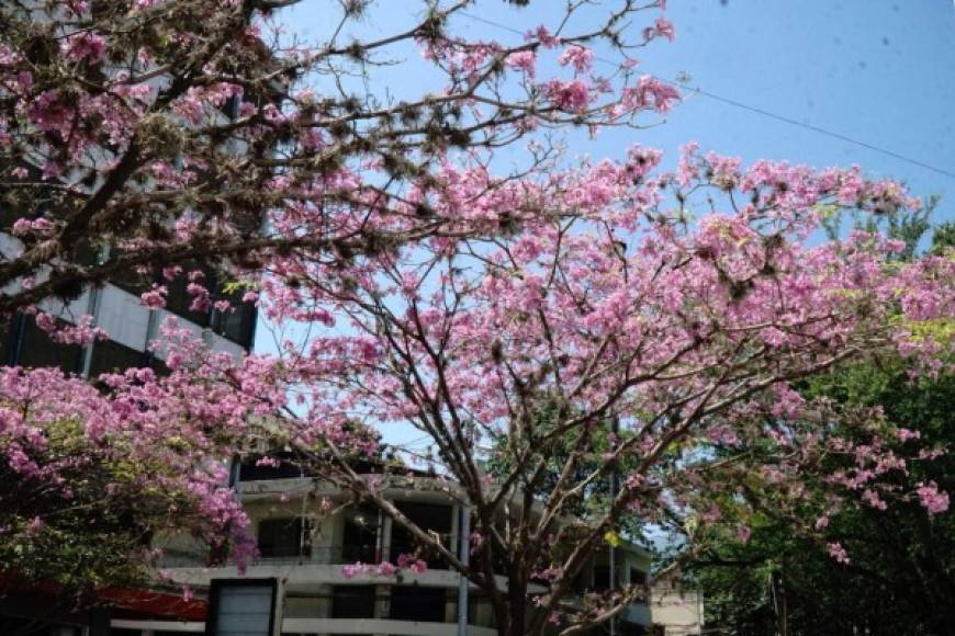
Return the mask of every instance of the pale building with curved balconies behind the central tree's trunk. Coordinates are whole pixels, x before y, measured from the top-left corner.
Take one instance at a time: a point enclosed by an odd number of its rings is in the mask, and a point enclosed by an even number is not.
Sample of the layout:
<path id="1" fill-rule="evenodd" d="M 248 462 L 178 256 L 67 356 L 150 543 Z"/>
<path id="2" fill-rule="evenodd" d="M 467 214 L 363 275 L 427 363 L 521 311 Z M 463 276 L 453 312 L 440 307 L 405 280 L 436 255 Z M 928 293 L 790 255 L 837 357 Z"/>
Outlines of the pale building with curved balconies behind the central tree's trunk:
<path id="1" fill-rule="evenodd" d="M 458 550 L 463 511 L 448 493 L 447 482 L 438 487 L 426 476 L 409 479 L 413 487 L 385 489 L 386 497 L 408 519 Z M 404 569 L 392 575 L 374 567 L 353 567 L 359 563 L 394 561 L 398 555 L 415 552 L 412 537 L 389 518 L 374 509 L 350 506 L 346 492 L 281 467 L 245 466 L 238 491 L 260 552 L 259 559 L 241 576 L 283 581 L 282 634 L 458 634 L 460 578 L 439 558 L 426 557 L 428 568 L 419 572 Z M 173 581 L 190 586 L 201 595 L 213 579 L 240 576 L 234 566 L 205 567 L 195 547 L 177 540 L 167 543 L 165 564 Z M 619 546 L 615 566 L 616 584 L 645 583 L 650 554 L 637 546 Z M 610 571 L 609 554 L 603 550 L 584 568 L 578 591 L 607 590 L 611 586 Z M 499 583 L 504 587 L 503 577 Z M 487 600 L 473 586 L 470 590 L 468 633 L 495 635 Z M 531 593 L 544 591 L 540 583 Z M 649 606 L 637 603 L 618 618 L 616 634 L 645 634 L 650 624 Z M 150 632 L 153 636 L 171 636 L 204 629 L 201 621 L 114 618 L 112 625 L 113 634 L 122 636 L 146 636 Z"/>

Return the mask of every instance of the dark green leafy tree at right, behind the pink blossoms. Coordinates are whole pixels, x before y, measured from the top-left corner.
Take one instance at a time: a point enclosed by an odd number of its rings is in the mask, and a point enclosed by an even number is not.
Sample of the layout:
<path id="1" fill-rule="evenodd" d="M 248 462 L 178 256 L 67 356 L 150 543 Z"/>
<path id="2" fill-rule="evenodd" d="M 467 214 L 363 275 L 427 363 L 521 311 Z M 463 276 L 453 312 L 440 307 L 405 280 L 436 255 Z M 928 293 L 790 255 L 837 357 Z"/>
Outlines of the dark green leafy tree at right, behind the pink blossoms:
<path id="1" fill-rule="evenodd" d="M 951 249 L 950 228 L 943 225 L 933 234 L 932 253 Z M 908 253 L 915 252 L 921 236 L 907 237 Z M 951 343 L 951 318 L 928 329 Z M 748 542 L 728 532 L 710 537 L 712 544 L 698 556 L 693 572 L 706 591 L 710 624 L 752 635 L 775 634 L 784 621 L 789 634 L 953 633 L 955 518 L 943 513 L 947 496 L 932 495 L 955 488 L 955 376 L 947 366 L 951 359 L 943 360 L 948 362 L 937 373 L 912 379 L 905 359 L 876 355 L 802 383 L 809 398 L 832 400 L 890 423 L 896 432 L 883 440 L 891 452 L 903 453 L 918 439 L 933 450 L 929 453 L 941 455 L 910 463 L 906 473 L 896 474 L 895 489 L 920 496 L 886 510 L 862 491 L 861 498 L 819 520 L 765 509 L 751 520 Z M 825 482 L 806 485 L 820 498 L 831 488 Z M 940 514 L 926 516 L 923 507 L 933 501 Z M 834 559 L 833 544 L 844 546 L 849 557 Z"/>

